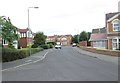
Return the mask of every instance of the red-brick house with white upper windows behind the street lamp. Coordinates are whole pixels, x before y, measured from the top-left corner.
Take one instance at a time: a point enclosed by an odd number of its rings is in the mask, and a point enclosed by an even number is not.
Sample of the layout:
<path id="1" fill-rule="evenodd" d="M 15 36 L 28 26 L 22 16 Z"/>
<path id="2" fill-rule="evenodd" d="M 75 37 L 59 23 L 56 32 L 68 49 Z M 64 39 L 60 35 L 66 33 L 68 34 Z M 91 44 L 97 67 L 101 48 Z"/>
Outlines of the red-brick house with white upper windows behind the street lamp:
<path id="1" fill-rule="evenodd" d="M 32 31 L 27 29 L 19 29 L 20 39 L 19 44 L 21 48 L 26 48 L 29 44 L 33 44 L 33 34 Z"/>

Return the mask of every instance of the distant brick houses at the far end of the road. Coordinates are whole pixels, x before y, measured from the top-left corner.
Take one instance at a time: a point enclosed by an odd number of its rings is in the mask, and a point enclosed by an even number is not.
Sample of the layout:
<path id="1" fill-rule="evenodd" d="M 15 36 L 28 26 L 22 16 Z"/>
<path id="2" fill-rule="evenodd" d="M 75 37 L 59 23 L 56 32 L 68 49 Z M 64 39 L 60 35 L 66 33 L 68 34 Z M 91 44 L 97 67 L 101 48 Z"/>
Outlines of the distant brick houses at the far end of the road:
<path id="1" fill-rule="evenodd" d="M 54 35 L 48 36 L 46 42 L 60 42 L 61 45 L 71 45 L 72 36 L 71 35 Z"/>

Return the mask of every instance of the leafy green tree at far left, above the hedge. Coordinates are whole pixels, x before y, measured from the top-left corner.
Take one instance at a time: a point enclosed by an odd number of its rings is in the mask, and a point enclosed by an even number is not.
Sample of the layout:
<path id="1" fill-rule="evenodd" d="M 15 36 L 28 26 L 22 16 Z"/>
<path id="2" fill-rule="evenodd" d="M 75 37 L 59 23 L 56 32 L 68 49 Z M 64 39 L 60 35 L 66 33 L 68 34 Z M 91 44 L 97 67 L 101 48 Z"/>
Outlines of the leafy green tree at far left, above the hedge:
<path id="1" fill-rule="evenodd" d="M 10 48 L 13 48 L 13 41 L 19 38 L 17 27 L 11 23 L 9 17 L 0 18 L 0 21 L 2 21 L 2 38 L 8 42 Z"/>

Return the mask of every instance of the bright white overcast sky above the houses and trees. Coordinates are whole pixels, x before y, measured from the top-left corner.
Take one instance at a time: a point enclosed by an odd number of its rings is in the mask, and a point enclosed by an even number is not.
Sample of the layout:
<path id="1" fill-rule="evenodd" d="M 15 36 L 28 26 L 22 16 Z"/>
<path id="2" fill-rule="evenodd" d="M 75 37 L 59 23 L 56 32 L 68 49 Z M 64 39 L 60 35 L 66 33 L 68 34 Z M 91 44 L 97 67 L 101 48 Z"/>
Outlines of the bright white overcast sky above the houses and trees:
<path id="1" fill-rule="evenodd" d="M 75 35 L 105 26 L 105 14 L 118 11 L 119 0 L 0 0 L 0 16 L 20 29 L 45 35 Z"/>

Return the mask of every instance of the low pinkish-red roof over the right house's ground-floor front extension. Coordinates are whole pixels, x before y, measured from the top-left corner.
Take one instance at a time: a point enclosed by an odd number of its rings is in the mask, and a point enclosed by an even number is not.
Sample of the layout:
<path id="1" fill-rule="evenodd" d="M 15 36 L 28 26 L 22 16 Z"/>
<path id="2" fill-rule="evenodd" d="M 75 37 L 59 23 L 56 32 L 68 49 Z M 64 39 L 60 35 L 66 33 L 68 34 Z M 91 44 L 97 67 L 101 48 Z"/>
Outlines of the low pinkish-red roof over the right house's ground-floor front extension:
<path id="1" fill-rule="evenodd" d="M 105 40 L 105 39 L 107 39 L 106 33 L 95 33 L 95 34 L 91 34 L 89 41 Z"/>

